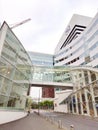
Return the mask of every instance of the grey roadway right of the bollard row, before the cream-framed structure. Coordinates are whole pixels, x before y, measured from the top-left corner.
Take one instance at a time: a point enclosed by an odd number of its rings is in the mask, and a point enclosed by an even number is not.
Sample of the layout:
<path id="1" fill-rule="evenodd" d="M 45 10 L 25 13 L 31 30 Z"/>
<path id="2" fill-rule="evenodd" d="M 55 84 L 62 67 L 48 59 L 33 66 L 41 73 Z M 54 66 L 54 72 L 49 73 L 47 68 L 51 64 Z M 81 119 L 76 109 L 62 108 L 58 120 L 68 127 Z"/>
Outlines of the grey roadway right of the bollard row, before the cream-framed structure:
<path id="1" fill-rule="evenodd" d="M 40 111 L 40 115 L 54 122 L 61 121 L 62 127 L 67 130 L 70 130 L 71 126 L 74 127 L 72 130 L 98 130 L 98 117 L 94 118 L 86 115 L 73 115 L 51 111 Z"/>

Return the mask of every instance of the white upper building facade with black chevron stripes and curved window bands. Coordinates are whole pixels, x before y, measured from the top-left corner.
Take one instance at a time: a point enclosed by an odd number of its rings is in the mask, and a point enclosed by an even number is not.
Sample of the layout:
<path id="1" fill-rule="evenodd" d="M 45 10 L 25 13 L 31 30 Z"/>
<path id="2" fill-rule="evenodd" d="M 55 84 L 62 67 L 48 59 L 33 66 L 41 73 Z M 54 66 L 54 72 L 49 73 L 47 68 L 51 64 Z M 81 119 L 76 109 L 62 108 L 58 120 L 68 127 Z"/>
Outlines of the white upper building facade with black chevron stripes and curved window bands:
<path id="1" fill-rule="evenodd" d="M 74 15 L 55 49 L 55 66 L 97 67 L 98 14 L 94 19 Z M 83 20 L 83 22 L 82 22 Z M 96 60 L 95 60 L 96 59 Z"/>

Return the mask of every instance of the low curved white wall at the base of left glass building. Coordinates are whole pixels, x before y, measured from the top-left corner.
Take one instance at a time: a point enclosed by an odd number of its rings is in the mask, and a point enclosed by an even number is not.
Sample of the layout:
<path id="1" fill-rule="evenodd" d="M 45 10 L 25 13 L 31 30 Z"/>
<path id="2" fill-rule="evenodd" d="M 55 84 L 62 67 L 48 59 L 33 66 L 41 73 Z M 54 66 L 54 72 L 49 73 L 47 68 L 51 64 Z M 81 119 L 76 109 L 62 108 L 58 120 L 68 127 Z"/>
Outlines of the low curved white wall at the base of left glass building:
<path id="1" fill-rule="evenodd" d="M 0 110 L 0 124 L 8 123 L 8 122 L 23 118 L 26 115 L 27 115 L 27 112 Z"/>

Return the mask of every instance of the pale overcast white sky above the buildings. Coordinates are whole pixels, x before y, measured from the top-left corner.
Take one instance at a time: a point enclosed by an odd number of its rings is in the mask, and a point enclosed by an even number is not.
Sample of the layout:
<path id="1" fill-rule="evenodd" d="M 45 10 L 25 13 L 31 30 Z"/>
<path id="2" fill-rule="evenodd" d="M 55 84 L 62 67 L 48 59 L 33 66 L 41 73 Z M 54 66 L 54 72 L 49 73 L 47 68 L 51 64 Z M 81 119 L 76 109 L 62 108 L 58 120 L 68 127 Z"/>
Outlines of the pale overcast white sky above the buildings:
<path id="1" fill-rule="evenodd" d="M 0 0 L 0 23 L 13 29 L 27 51 L 53 54 L 73 14 L 94 17 L 98 0 Z M 39 89 L 38 89 L 39 91 Z"/>

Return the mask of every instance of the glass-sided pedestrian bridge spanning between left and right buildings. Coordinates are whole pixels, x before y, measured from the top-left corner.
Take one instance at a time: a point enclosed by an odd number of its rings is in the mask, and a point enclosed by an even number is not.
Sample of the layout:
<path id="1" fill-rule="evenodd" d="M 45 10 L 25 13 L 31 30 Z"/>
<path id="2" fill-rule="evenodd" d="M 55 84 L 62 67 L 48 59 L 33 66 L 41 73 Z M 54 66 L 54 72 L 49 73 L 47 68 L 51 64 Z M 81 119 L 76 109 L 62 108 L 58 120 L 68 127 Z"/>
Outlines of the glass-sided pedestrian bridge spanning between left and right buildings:
<path id="1" fill-rule="evenodd" d="M 60 87 L 72 89 L 69 67 L 34 66 L 31 87 Z"/>

